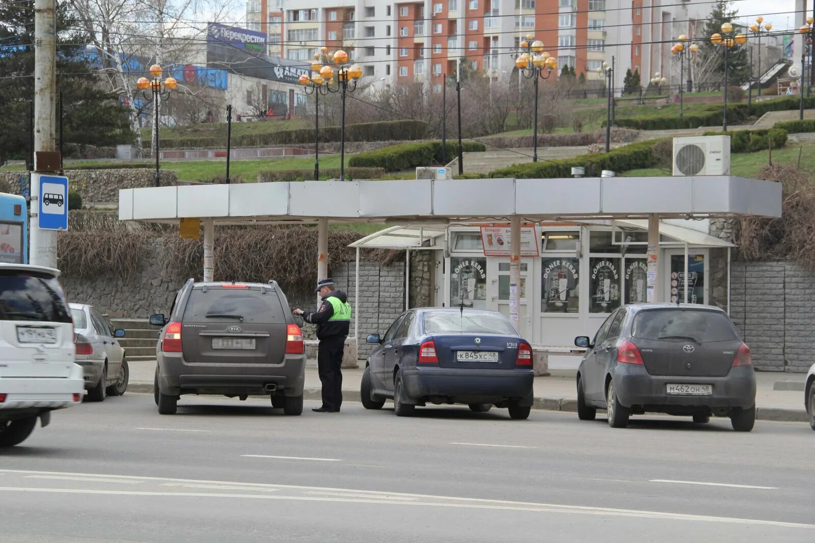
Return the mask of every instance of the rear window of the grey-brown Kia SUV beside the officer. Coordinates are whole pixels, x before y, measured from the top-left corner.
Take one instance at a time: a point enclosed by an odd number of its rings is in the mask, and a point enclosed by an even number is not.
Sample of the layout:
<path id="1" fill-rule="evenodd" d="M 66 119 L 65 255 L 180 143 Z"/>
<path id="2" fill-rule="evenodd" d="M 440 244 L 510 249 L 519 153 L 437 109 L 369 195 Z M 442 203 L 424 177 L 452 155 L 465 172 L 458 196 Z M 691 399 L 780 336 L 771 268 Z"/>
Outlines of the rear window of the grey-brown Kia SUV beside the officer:
<path id="1" fill-rule="evenodd" d="M 277 293 L 259 288 L 195 288 L 184 309 L 184 322 L 283 324 L 286 316 Z"/>

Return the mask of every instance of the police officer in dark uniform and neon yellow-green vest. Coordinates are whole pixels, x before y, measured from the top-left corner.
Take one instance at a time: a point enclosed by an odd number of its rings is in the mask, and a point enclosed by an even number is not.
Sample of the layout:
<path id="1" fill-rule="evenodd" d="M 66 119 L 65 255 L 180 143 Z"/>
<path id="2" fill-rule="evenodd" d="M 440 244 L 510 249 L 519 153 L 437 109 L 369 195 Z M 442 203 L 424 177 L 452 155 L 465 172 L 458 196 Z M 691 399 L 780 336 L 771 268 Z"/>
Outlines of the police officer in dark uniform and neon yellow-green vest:
<path id="1" fill-rule="evenodd" d="M 351 306 L 346 293 L 337 291 L 331 278 L 317 282 L 317 292 L 323 300 L 315 313 L 305 312 L 300 308 L 294 310 L 294 314 L 302 315 L 304 321 L 317 325 L 317 369 L 320 383 L 323 383 L 323 405 L 311 410 L 317 413 L 339 413 L 342 403 L 340 366 L 350 328 Z"/>

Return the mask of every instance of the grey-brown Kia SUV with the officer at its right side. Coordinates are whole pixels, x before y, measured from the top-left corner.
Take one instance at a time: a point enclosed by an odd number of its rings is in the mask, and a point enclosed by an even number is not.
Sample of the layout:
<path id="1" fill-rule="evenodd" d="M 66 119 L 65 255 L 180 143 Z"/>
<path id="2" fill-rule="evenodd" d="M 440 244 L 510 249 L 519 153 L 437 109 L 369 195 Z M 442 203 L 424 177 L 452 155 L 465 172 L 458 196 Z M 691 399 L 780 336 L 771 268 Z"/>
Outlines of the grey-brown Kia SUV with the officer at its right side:
<path id="1" fill-rule="evenodd" d="M 280 286 L 193 282 L 178 291 L 156 345 L 158 412 L 174 414 L 183 394 L 223 394 L 245 400 L 271 396 L 285 414 L 303 409 L 306 353 L 302 319 L 293 317 Z"/>

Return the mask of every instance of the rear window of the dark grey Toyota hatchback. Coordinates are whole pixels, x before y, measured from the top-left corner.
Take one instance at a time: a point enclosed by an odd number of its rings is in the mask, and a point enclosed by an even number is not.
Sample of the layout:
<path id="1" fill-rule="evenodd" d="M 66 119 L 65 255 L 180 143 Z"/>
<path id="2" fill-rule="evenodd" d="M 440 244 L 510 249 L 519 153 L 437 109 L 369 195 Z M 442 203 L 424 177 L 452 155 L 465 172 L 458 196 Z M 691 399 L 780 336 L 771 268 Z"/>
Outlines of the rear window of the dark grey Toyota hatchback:
<path id="1" fill-rule="evenodd" d="M 640 339 L 734 341 L 738 334 L 725 313 L 704 309 L 648 309 L 637 313 L 632 335 Z"/>

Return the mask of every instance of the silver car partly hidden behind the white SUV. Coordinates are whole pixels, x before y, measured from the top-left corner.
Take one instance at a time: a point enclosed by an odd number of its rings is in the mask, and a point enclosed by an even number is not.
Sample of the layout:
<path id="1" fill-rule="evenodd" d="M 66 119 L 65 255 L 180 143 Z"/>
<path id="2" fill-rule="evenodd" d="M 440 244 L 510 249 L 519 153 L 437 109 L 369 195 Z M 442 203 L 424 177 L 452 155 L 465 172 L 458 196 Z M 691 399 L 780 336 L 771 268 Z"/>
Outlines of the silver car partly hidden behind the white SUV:
<path id="1" fill-rule="evenodd" d="M 130 378 L 125 349 L 117 341 L 125 337 L 125 331 L 113 330 L 110 321 L 92 305 L 70 306 L 77 350 L 75 361 L 85 372 L 87 399 L 103 401 L 105 396 L 121 396 Z"/>

